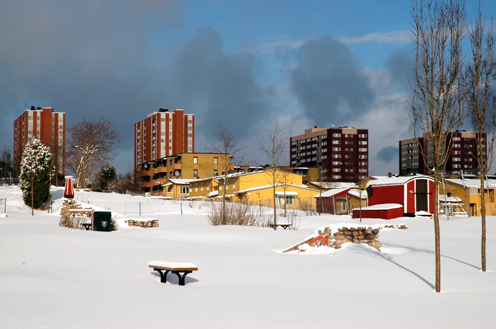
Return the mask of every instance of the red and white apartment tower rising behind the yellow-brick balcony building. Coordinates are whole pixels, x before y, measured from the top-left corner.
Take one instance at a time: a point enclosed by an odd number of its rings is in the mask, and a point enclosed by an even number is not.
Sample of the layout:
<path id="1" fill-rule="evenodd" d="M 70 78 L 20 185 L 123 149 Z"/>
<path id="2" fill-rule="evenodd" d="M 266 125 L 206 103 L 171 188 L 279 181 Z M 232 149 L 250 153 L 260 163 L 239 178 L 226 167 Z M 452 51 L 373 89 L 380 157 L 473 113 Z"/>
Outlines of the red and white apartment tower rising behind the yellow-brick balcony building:
<path id="1" fill-rule="evenodd" d="M 194 152 L 194 114 L 159 109 L 134 124 L 134 168 L 177 153 Z M 142 169 L 142 168 L 139 168 Z"/>

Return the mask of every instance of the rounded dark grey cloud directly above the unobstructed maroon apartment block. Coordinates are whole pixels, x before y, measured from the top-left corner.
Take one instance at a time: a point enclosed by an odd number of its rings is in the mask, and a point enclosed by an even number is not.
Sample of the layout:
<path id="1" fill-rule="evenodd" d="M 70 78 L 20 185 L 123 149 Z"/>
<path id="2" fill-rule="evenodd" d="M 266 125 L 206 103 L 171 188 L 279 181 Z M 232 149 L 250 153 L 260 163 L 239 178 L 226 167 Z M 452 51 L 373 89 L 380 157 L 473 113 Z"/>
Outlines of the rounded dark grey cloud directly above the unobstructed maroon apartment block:
<path id="1" fill-rule="evenodd" d="M 290 71 L 293 92 L 305 113 L 320 126 L 340 124 L 350 113 L 369 109 L 375 93 L 350 49 L 329 36 L 310 39 L 296 52 L 297 67 Z"/>

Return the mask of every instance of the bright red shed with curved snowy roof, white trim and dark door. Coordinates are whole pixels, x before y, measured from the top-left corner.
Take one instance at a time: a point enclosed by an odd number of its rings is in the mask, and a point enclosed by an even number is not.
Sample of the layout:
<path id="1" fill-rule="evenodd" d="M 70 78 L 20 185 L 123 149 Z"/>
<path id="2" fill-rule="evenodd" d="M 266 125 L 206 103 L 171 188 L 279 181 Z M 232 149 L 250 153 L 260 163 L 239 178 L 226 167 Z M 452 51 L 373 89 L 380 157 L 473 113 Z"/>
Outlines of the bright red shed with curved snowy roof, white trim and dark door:
<path id="1" fill-rule="evenodd" d="M 375 177 L 374 177 L 375 178 Z M 434 210 L 434 179 L 424 175 L 376 177 L 368 184 L 369 206 L 396 203 L 403 206 L 404 216 L 417 211 Z M 362 213 L 362 217 L 363 213 Z"/>

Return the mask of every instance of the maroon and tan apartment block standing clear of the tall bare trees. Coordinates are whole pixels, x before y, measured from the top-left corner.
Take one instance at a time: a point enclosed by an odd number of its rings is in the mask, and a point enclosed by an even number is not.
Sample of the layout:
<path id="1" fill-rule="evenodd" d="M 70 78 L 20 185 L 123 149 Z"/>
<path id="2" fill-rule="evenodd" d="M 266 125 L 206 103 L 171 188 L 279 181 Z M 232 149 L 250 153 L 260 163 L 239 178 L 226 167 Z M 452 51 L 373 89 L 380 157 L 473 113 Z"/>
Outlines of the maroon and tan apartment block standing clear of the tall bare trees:
<path id="1" fill-rule="evenodd" d="M 305 130 L 291 137 L 292 167 L 321 168 L 334 182 L 358 182 L 369 176 L 369 130 L 350 127 Z"/>

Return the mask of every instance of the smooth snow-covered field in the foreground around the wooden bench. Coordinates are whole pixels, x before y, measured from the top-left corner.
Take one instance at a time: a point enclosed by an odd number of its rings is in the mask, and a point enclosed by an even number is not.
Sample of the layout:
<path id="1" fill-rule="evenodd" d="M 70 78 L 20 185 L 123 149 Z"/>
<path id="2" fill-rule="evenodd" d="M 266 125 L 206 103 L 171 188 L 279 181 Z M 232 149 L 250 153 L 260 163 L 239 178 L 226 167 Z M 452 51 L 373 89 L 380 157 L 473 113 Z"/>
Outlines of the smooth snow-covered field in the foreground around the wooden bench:
<path id="1" fill-rule="evenodd" d="M 487 273 L 479 270 L 480 218 L 441 221 L 439 294 L 427 218 L 365 219 L 409 227 L 382 230 L 381 253 L 348 245 L 296 254 L 279 251 L 320 226 L 355 220 L 302 217 L 300 230 L 274 232 L 212 227 L 204 215 L 152 217 L 159 228 L 112 233 L 59 228 L 55 214 L 0 217 L 0 328 L 479 329 L 496 323 L 496 217 L 488 218 Z M 198 271 L 186 286 L 174 275 L 164 284 L 150 260 L 191 262 Z"/>

